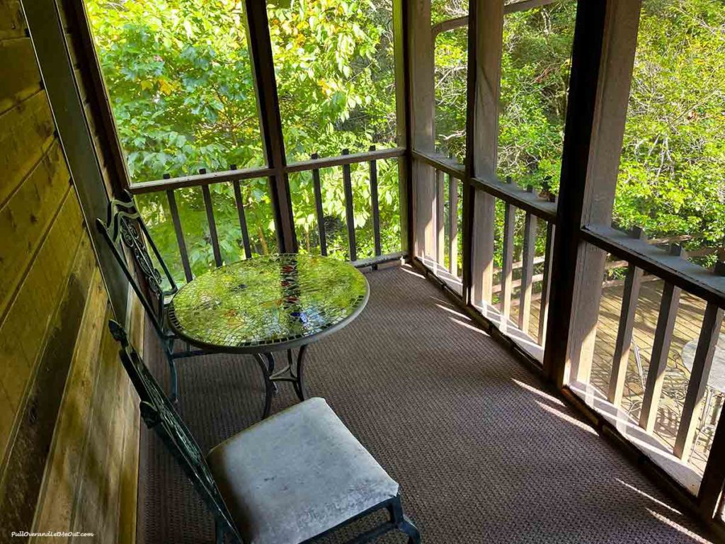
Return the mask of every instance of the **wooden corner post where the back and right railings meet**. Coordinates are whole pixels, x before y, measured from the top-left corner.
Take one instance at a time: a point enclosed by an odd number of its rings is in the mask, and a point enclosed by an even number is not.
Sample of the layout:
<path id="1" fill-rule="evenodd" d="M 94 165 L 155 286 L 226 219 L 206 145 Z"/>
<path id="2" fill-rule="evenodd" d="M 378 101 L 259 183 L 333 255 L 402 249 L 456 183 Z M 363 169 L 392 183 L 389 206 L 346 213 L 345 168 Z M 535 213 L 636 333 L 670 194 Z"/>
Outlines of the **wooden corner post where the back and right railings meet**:
<path id="1" fill-rule="evenodd" d="M 410 108 L 409 146 L 422 152 L 434 151 L 434 54 L 431 36 L 430 0 L 407 0 L 407 48 L 415 51 L 408 58 L 407 94 Z M 413 160 L 413 228 L 416 257 L 435 257 L 436 184 L 434 168 Z"/>

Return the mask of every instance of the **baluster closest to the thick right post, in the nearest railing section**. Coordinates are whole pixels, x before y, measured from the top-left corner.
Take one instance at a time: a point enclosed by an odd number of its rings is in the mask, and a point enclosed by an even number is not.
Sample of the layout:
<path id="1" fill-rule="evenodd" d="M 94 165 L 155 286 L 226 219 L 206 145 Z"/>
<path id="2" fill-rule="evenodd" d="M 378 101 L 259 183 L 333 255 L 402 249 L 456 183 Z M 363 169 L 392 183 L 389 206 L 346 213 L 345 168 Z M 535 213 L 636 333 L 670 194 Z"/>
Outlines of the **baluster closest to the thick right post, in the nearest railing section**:
<path id="1" fill-rule="evenodd" d="M 642 228 L 635 227 L 632 237 L 645 239 L 645 232 Z M 627 273 L 624 279 L 624 291 L 622 292 L 622 309 L 619 314 L 619 327 L 617 339 L 614 345 L 614 358 L 612 360 L 612 373 L 609 378 L 609 389 L 607 399 L 615 406 L 622 403 L 624 394 L 624 382 L 629 365 L 629 347 L 632 342 L 632 330 L 634 329 L 634 315 L 637 310 L 639 299 L 639 286 L 642 284 L 642 268 L 634 265 L 627 266 Z"/>

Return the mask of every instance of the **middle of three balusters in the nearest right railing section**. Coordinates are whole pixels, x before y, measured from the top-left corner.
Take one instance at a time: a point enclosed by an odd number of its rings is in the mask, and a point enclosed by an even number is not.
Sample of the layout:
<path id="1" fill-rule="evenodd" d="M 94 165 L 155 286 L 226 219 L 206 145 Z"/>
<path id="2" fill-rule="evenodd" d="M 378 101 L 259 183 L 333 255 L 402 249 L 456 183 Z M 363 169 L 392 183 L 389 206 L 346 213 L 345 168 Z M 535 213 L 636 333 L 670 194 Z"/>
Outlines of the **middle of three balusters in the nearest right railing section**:
<path id="1" fill-rule="evenodd" d="M 670 248 L 671 255 L 682 257 L 684 251 L 682 246 L 673 245 Z M 647 432 L 652 432 L 657 419 L 657 408 L 662 395 L 662 384 L 667 371 L 667 359 L 672 342 L 672 332 L 677 318 L 677 308 L 681 289 L 673 284 L 666 283 L 662 289 L 662 301 L 660 302 L 660 315 L 657 319 L 655 329 L 655 341 L 652 346 L 652 359 L 650 369 L 647 371 L 647 385 L 645 387 L 645 398 L 642 400 L 642 413 L 639 414 L 639 426 Z"/>

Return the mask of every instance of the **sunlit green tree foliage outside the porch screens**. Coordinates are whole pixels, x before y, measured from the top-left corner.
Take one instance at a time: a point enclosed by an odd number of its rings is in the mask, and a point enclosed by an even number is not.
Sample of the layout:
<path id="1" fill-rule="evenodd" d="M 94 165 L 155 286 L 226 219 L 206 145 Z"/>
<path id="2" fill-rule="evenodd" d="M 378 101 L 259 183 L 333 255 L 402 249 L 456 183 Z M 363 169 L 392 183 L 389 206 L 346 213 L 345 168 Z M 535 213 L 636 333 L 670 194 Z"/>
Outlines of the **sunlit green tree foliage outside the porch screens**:
<path id="1" fill-rule="evenodd" d="M 243 3 L 87 0 L 133 181 L 265 162 Z M 434 0 L 434 23 L 467 15 L 465 0 Z M 268 2 L 289 162 L 396 142 L 392 0 Z M 558 190 L 576 2 L 505 18 L 500 177 Z M 467 28 L 435 42 L 436 145 L 463 160 Z M 646 0 L 618 176 L 614 219 L 650 236 L 725 235 L 725 7 L 720 0 Z M 378 165 L 384 251 L 399 247 L 397 166 Z M 321 172 L 328 246 L 347 252 L 339 168 Z M 367 165 L 354 165 L 359 254 L 372 254 Z M 301 250 L 318 251 L 310 173 L 290 176 Z M 273 251 L 267 181 L 243 182 L 255 252 Z M 195 271 L 212 263 L 198 189 L 177 191 Z M 230 184 L 212 186 L 225 260 L 241 256 Z M 163 195 L 142 201 L 165 255 L 176 256 Z M 457 210 L 460 214 L 460 210 Z M 502 207 L 497 226 L 502 228 Z M 521 246 L 521 218 L 517 244 Z M 543 228 L 543 226 L 542 226 Z M 500 239 L 498 237 L 497 239 Z M 542 252 L 544 236 L 537 243 Z M 461 255 L 461 252 L 459 252 Z M 174 259 L 176 261 L 174 262 Z M 500 260 L 500 247 L 497 251 Z M 175 273 L 181 276 L 178 257 Z"/>

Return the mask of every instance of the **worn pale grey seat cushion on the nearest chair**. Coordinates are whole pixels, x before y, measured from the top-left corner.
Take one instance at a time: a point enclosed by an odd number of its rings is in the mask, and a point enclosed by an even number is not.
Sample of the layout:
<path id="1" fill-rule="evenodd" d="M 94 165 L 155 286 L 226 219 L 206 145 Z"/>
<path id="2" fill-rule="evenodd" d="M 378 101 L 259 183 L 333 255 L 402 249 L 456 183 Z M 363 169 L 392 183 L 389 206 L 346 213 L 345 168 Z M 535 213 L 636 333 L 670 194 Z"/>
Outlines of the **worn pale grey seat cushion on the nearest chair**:
<path id="1" fill-rule="evenodd" d="M 300 543 L 398 493 L 321 398 L 245 429 L 207 461 L 249 544 Z"/>

